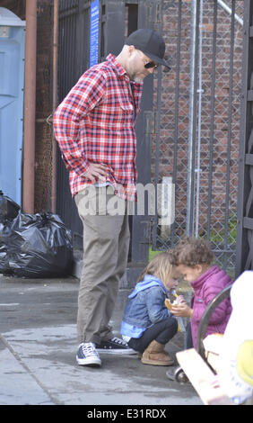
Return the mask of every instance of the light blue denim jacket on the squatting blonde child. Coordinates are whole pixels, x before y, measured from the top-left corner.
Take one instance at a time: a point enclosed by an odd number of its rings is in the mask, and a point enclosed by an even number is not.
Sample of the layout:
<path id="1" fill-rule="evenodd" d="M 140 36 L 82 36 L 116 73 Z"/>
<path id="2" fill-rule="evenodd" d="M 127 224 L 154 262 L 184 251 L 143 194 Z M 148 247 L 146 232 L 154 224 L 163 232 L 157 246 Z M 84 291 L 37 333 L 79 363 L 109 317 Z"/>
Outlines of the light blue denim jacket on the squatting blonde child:
<path id="1" fill-rule="evenodd" d="M 145 329 L 158 321 L 167 319 L 170 311 L 164 304 L 168 290 L 161 280 L 145 275 L 144 281 L 136 284 L 128 296 L 120 333 L 130 338 L 139 338 Z"/>

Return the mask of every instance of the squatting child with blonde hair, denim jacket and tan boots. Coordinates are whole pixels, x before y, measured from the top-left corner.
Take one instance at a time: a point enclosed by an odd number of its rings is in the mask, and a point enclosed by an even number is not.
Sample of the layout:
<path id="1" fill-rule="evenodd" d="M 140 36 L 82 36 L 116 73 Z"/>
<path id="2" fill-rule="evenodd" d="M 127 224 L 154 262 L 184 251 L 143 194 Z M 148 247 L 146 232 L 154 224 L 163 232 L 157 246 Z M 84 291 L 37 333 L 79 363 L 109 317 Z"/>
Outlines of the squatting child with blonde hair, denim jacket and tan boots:
<path id="1" fill-rule="evenodd" d="M 155 256 L 128 296 L 120 331 L 128 346 L 139 352 L 144 365 L 174 364 L 164 349 L 178 330 L 177 320 L 164 304 L 168 290 L 178 284 L 171 261 L 170 252 Z"/>

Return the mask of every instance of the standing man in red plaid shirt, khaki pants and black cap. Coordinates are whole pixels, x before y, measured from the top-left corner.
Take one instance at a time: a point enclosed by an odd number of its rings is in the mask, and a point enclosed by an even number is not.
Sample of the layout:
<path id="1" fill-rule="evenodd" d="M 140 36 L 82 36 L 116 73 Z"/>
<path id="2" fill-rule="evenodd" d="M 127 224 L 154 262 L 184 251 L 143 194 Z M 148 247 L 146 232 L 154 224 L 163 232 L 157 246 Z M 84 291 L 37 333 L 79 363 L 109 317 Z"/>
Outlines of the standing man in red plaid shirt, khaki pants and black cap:
<path id="1" fill-rule="evenodd" d="M 100 366 L 99 352 L 134 353 L 113 336 L 109 320 L 127 264 L 126 202 L 136 198 L 135 119 L 144 77 L 160 64 L 169 67 L 164 51 L 157 32 L 133 32 L 117 58 L 109 54 L 81 76 L 54 116 L 71 193 L 83 220 L 79 365 Z"/>

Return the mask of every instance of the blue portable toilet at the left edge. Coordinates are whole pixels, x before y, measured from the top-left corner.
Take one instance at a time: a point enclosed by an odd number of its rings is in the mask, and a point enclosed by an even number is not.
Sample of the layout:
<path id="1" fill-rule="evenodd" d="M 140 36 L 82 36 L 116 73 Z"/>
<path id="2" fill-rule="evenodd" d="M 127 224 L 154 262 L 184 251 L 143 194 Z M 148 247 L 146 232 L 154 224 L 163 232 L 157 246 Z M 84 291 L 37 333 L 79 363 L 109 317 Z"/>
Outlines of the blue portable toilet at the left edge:
<path id="1" fill-rule="evenodd" d="M 22 202 L 25 21 L 0 7 L 0 190 Z"/>

